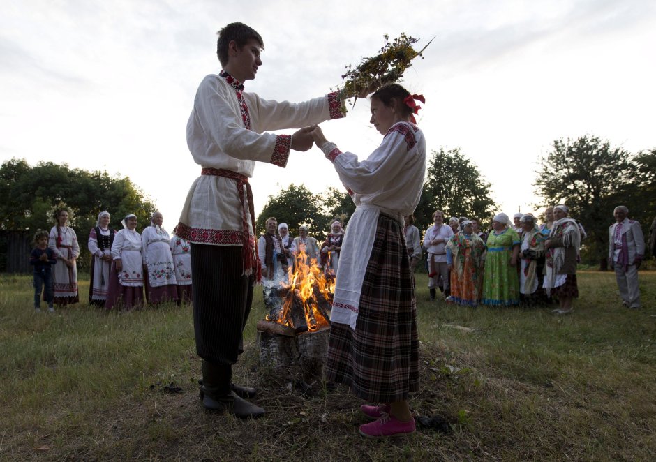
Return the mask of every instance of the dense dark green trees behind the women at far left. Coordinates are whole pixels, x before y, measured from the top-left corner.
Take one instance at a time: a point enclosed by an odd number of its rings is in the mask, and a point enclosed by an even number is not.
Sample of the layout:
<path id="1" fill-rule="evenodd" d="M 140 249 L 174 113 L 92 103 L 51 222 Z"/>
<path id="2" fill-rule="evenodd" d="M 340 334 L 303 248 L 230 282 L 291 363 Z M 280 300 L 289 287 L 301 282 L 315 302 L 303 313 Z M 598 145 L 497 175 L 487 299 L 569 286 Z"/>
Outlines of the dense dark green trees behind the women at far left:
<path id="1" fill-rule="evenodd" d="M 89 255 L 84 245 L 87 233 L 96 225 L 100 211 L 112 214 L 113 228 L 121 218 L 135 214 L 147 223 L 155 205 L 128 178 L 110 177 L 107 172 L 70 169 L 68 165 L 40 162 L 31 167 L 23 159 L 11 159 L 0 167 L 0 230 L 50 230 L 52 211 L 59 204 L 73 211 L 80 239 L 80 266 Z"/>

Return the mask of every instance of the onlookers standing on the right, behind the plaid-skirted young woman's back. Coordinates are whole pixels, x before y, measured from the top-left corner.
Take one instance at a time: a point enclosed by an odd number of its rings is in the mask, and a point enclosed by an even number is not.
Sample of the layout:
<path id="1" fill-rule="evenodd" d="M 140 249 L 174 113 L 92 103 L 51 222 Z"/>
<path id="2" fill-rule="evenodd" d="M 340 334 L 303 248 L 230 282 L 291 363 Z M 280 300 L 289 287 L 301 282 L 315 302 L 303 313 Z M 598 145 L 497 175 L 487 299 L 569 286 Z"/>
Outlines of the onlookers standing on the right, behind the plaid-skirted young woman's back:
<path id="1" fill-rule="evenodd" d="M 637 271 L 646 255 L 645 241 L 640 223 L 627 214 L 624 206 L 613 211 L 616 223 L 609 228 L 609 264 L 616 272 L 623 304 L 639 308 Z M 547 208 L 545 218 L 538 225 L 532 214 L 518 213 L 511 221 L 501 213 L 485 232 L 478 218 L 452 217 L 446 225 L 444 213 L 437 210 L 421 245 L 412 216 L 406 217 L 410 264 L 416 265 L 426 251 L 431 300 L 439 289 L 454 304 L 535 306 L 558 301 L 553 313 L 572 313 L 572 301 L 579 297 L 576 267 L 586 231 L 562 204 Z M 653 254 L 655 239 L 650 236 Z"/>

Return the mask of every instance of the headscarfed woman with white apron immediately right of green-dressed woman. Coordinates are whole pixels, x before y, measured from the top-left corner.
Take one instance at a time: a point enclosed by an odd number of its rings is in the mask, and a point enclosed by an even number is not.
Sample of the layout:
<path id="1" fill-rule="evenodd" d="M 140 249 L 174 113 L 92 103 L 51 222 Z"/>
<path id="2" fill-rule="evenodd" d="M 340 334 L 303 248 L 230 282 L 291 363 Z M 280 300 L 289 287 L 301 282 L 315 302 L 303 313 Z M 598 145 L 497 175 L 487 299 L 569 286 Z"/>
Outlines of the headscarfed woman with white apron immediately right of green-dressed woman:
<path id="1" fill-rule="evenodd" d="M 522 226 L 519 248 L 519 297 L 523 304 L 532 305 L 542 296 L 542 271 L 544 271 L 544 234 L 537 227 L 537 218 L 530 214 L 520 218 Z"/>

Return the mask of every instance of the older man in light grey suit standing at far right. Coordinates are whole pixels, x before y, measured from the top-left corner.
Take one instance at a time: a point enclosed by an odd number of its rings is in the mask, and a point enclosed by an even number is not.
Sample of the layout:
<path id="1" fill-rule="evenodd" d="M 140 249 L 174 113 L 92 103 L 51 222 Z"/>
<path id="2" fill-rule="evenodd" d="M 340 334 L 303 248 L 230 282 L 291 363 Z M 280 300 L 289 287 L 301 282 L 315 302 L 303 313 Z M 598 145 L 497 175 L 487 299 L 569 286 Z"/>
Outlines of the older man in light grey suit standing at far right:
<path id="1" fill-rule="evenodd" d="M 608 261 L 615 269 L 622 304 L 640 308 L 638 268 L 645 255 L 645 238 L 640 223 L 629 220 L 629 209 L 620 205 L 613 210 L 616 223 L 609 228 Z"/>

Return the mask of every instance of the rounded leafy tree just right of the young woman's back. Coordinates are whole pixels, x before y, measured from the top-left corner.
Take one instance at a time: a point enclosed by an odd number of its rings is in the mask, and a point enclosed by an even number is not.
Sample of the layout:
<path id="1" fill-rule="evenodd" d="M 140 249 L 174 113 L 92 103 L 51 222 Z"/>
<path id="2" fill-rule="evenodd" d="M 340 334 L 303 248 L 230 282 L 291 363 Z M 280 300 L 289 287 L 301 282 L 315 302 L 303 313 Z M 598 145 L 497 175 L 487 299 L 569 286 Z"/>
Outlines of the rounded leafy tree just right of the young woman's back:
<path id="1" fill-rule="evenodd" d="M 460 152 L 460 148 L 433 151 L 428 161 L 424 190 L 415 211 L 415 225 L 428 228 L 433 212 L 443 210 L 447 216 L 477 216 L 486 220 L 496 208 L 491 185 L 478 167 Z"/>

